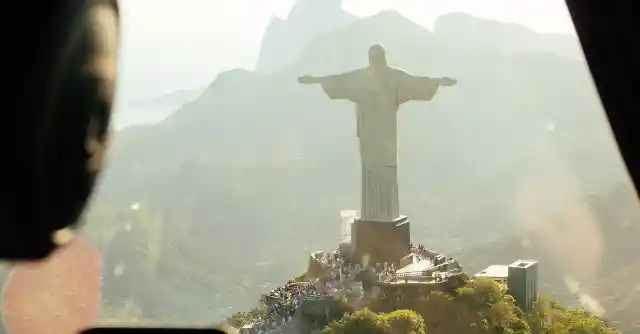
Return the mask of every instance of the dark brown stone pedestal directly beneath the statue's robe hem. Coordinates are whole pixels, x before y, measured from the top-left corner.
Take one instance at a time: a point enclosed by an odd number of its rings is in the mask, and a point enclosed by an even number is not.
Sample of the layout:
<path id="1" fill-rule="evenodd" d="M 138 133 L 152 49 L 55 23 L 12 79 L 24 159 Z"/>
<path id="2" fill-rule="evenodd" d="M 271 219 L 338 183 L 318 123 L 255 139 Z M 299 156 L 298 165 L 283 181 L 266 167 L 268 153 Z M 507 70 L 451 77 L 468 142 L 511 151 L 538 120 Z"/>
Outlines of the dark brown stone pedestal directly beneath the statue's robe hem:
<path id="1" fill-rule="evenodd" d="M 356 219 L 351 230 L 353 259 L 356 263 L 369 254 L 369 265 L 395 263 L 409 252 L 411 229 L 409 219 L 400 216 L 391 222 Z"/>

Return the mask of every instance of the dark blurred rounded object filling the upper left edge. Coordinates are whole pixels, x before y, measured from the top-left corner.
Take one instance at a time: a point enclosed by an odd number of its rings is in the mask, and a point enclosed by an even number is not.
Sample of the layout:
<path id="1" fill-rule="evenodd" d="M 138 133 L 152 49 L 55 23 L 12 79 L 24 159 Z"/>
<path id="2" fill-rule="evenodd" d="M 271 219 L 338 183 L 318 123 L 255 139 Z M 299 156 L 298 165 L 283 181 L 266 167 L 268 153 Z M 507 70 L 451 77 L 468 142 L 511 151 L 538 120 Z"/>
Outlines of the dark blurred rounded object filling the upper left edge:
<path id="1" fill-rule="evenodd" d="M 5 174 L 13 188 L 0 200 L 0 257 L 39 259 L 73 238 L 102 166 L 119 14 L 116 0 L 52 0 L 12 12 L 26 14 L 27 29 L 7 34 L 15 35 L 9 48 L 15 64 L 28 64 L 8 81 L 17 90 L 15 156 L 3 162 L 16 173 Z"/>

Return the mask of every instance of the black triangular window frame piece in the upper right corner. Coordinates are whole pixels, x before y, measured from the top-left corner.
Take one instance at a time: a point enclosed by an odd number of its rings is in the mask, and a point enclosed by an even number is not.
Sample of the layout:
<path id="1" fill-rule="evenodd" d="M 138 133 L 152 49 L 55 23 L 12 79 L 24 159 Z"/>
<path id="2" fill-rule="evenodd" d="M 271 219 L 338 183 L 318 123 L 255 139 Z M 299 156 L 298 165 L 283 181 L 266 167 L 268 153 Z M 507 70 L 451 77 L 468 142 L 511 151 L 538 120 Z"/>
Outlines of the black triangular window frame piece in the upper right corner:
<path id="1" fill-rule="evenodd" d="M 565 1 L 637 194 L 640 39 L 636 21 L 640 6 L 636 1 Z"/>

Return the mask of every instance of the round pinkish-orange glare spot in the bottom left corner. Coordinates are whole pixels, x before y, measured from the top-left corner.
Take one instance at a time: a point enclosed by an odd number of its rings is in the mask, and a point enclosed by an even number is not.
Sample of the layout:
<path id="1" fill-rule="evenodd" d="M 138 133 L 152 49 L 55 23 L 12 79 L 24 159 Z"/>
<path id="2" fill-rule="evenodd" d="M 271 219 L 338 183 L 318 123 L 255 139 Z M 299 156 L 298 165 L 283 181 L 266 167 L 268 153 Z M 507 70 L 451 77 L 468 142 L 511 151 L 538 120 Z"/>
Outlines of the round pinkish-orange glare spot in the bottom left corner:
<path id="1" fill-rule="evenodd" d="M 42 261 L 20 262 L 2 288 L 11 334 L 77 333 L 98 320 L 101 256 L 83 237 Z"/>

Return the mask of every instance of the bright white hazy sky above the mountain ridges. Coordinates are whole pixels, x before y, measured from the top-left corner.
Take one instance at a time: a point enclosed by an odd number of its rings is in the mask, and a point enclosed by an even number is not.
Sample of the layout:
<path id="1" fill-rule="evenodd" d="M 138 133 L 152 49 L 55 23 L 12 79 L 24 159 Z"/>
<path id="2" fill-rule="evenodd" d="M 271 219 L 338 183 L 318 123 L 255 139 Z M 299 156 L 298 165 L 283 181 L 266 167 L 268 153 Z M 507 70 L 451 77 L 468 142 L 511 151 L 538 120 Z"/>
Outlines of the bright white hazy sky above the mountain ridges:
<path id="1" fill-rule="evenodd" d="M 153 96 L 204 86 L 221 70 L 251 68 L 264 27 L 295 0 L 122 0 L 121 92 Z M 540 32 L 574 33 L 563 0 L 344 0 L 360 16 L 395 9 L 431 28 L 461 11 Z"/>

